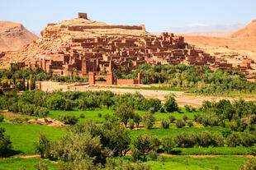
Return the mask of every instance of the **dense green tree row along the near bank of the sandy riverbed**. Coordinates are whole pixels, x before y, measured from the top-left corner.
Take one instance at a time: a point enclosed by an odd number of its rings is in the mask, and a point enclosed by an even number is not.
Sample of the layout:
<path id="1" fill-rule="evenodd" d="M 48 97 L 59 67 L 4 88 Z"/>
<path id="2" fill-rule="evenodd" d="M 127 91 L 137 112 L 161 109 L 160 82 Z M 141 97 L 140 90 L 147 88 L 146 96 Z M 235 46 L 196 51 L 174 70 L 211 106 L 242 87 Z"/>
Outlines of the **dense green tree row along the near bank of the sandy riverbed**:
<path id="1" fill-rule="evenodd" d="M 102 106 L 118 108 L 125 103 L 132 109 L 155 112 L 173 112 L 178 110 L 178 104 L 173 96 L 167 96 L 163 105 L 159 99 L 145 99 L 139 93 L 113 94 L 111 91 L 54 91 L 45 93 L 41 90 L 25 91 L 22 94 L 6 92 L 0 95 L 0 108 L 9 109 L 14 113 L 24 113 L 45 117 L 48 110 L 93 110 Z M 48 108 L 48 110 L 46 110 Z M 124 110 L 124 109 L 122 109 Z"/>

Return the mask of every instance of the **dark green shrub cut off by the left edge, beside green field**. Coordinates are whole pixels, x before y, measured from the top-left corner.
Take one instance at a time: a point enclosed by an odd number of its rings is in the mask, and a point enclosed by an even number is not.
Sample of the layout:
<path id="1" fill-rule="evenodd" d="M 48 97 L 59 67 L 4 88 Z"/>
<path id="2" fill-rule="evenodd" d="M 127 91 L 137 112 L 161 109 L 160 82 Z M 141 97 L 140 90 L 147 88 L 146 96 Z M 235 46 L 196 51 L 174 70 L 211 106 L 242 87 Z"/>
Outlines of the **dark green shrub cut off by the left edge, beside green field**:
<path id="1" fill-rule="evenodd" d="M 12 151 L 10 136 L 5 134 L 5 129 L 0 127 L 0 158 L 7 157 Z"/>

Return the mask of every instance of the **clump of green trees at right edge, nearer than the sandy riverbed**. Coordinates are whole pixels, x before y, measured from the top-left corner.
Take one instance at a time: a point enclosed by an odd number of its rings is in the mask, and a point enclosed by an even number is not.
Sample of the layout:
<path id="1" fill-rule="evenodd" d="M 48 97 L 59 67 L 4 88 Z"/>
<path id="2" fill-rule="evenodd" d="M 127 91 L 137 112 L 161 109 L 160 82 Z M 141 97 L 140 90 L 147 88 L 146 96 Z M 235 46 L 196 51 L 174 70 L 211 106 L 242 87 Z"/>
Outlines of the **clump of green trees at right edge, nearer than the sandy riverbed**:
<path id="1" fill-rule="evenodd" d="M 220 101 L 204 101 L 201 105 L 201 116 L 195 115 L 194 121 L 201 122 L 204 126 L 224 126 L 225 120 L 230 122 L 232 131 L 254 130 L 256 123 L 256 101 L 245 101 L 244 99 Z M 219 122 L 219 123 L 218 123 Z"/>

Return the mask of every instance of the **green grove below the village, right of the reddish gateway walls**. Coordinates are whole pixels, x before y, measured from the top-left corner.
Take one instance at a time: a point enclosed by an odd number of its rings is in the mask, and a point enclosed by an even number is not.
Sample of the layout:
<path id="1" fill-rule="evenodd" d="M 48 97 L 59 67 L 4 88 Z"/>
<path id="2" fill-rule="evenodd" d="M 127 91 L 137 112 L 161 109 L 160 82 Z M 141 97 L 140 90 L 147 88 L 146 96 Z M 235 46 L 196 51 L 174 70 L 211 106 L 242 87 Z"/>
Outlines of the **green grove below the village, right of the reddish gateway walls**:
<path id="1" fill-rule="evenodd" d="M 206 66 L 186 66 L 183 64 L 151 66 L 145 64 L 140 65 L 134 71 L 117 71 L 116 77 L 137 78 L 139 72 L 144 74 L 143 84 L 166 83 L 172 87 L 194 88 L 200 94 L 256 92 L 256 83 L 246 80 L 246 74 L 232 69 L 211 71 Z"/>

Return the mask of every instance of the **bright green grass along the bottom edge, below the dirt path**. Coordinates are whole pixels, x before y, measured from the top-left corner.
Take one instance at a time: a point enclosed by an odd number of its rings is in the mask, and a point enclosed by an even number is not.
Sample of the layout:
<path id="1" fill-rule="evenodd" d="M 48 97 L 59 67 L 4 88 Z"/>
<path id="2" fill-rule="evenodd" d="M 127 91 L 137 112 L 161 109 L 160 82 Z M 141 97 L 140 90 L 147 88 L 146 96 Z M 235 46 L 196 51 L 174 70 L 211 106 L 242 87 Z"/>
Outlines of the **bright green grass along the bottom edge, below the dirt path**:
<path id="1" fill-rule="evenodd" d="M 191 158 L 184 156 L 164 157 L 164 162 L 159 161 L 160 156 L 155 161 L 148 159 L 153 170 L 175 169 L 175 170 L 202 170 L 202 169 L 225 169 L 238 170 L 239 166 L 244 164 L 248 158 L 237 156 L 220 156 L 208 158 Z M 130 160 L 129 157 L 125 159 Z M 50 170 L 55 169 L 56 164 L 42 159 L 0 159 L 0 170 L 20 169 L 32 170 L 36 163 L 46 163 Z"/>

